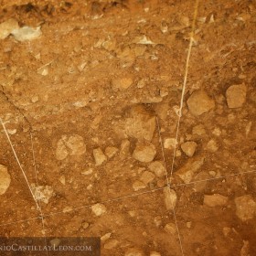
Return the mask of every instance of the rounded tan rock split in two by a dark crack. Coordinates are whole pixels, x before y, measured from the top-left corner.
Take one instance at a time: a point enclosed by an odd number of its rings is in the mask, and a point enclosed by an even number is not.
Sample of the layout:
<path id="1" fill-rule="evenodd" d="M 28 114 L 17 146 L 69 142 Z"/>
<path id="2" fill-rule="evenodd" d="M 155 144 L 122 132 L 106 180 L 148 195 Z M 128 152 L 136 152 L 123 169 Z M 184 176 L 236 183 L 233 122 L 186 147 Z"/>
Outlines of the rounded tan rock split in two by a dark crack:
<path id="1" fill-rule="evenodd" d="M 86 145 L 80 135 L 63 135 L 57 143 L 56 158 L 65 159 L 68 155 L 83 155 L 86 152 Z"/>

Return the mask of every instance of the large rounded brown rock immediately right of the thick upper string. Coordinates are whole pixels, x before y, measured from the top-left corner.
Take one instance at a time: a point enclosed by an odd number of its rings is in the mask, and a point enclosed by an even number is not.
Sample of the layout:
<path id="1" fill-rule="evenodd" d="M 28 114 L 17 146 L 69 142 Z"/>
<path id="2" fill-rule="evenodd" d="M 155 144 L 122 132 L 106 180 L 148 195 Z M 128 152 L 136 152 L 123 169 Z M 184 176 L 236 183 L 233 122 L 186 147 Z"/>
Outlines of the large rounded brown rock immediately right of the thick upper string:
<path id="1" fill-rule="evenodd" d="M 215 102 L 208 96 L 205 91 L 194 91 L 187 100 L 189 112 L 193 115 L 201 115 L 202 113 L 209 112 L 215 107 Z"/>

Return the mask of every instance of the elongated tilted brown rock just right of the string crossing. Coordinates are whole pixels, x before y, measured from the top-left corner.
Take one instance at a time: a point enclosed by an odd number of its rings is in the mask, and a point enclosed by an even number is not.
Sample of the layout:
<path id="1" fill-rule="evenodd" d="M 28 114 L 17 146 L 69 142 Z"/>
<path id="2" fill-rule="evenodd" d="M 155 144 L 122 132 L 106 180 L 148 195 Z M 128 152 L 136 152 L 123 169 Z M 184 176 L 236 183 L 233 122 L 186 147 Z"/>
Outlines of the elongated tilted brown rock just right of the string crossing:
<path id="1" fill-rule="evenodd" d="M 199 169 L 203 164 L 204 157 L 198 156 L 195 159 L 188 159 L 187 163 L 176 171 L 176 175 L 187 184 L 192 180 L 193 176 L 199 172 Z"/>

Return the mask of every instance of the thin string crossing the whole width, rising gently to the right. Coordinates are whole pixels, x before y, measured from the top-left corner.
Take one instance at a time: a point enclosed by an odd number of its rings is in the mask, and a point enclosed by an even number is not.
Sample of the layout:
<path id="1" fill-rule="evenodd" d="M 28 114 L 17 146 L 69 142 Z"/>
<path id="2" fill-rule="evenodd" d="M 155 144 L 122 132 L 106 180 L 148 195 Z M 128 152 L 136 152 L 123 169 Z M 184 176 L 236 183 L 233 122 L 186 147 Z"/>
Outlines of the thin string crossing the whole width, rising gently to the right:
<path id="1" fill-rule="evenodd" d="M 226 177 L 230 177 L 230 176 L 242 176 L 242 175 L 247 175 L 247 174 L 253 174 L 253 173 L 256 173 L 256 170 L 253 170 L 253 171 L 248 171 L 248 172 L 243 172 L 243 173 L 238 173 L 238 174 L 232 174 L 232 175 L 228 175 L 228 176 L 219 176 L 219 177 L 213 177 L 213 178 L 209 178 L 209 179 L 202 179 L 202 180 L 197 180 L 197 181 L 194 181 L 194 182 L 190 182 L 190 183 L 181 183 L 181 184 L 176 184 L 176 185 L 172 185 L 170 186 L 170 188 L 176 188 L 176 187 L 187 187 L 189 185 L 193 185 L 193 184 L 197 184 L 197 183 L 200 183 L 200 182 L 205 182 L 205 181 L 211 181 L 211 180 L 215 180 L 215 179 L 221 179 L 221 178 L 226 178 Z M 166 186 L 167 187 L 167 186 Z M 156 191 L 159 191 L 159 190 L 164 190 L 166 187 L 160 187 L 160 188 L 156 188 L 155 190 L 150 190 L 150 191 L 144 191 L 142 193 L 137 193 L 137 194 L 131 194 L 131 195 L 128 195 L 126 197 L 137 197 L 137 196 L 141 196 L 141 195 L 144 195 L 144 194 L 149 194 L 149 193 L 155 193 Z M 118 197 L 118 198 L 112 198 L 112 199 L 109 199 L 109 200 L 106 200 L 106 201 L 103 201 L 103 202 L 100 202 L 100 203 L 106 203 L 106 202 L 112 202 L 112 201 L 118 201 L 118 200 L 122 200 L 123 198 L 125 197 Z M 93 205 L 95 205 L 97 203 L 93 203 L 91 205 L 86 205 L 86 206 L 82 206 L 80 208 L 89 208 Z M 72 210 L 70 210 L 69 212 L 73 211 L 73 210 L 78 210 L 80 208 L 73 208 Z M 65 214 L 65 212 L 61 211 L 61 212 L 57 212 L 57 213 L 49 213 L 48 215 L 44 215 L 44 217 L 50 217 L 50 216 L 53 216 L 55 214 Z M 22 219 L 22 220 L 16 220 L 16 221 L 12 221 L 12 222 L 5 222 L 3 224 L 0 224 L 0 227 L 2 226 L 7 226 L 7 225 L 12 225 L 12 224 L 15 224 L 15 223 L 19 223 L 19 222 L 26 222 L 26 221 L 30 221 L 30 220 L 35 220 L 35 219 L 40 219 L 40 217 L 35 217 L 35 218 L 31 218 L 31 219 Z"/>

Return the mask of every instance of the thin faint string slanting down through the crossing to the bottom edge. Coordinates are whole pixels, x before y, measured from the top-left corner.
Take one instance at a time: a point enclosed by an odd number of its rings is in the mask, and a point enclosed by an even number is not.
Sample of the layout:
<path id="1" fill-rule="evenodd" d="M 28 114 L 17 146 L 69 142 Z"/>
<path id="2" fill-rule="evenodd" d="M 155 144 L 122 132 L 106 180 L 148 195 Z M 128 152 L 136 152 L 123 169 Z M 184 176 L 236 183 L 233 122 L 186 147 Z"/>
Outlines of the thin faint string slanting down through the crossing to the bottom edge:
<path id="1" fill-rule="evenodd" d="M 168 179 L 168 173 L 167 173 L 167 168 L 166 168 L 165 151 L 164 151 L 163 140 L 162 140 L 162 136 L 161 136 L 160 124 L 159 124 L 159 121 L 158 121 L 158 117 L 156 116 L 155 118 L 156 118 L 156 123 L 157 123 L 157 131 L 158 131 L 159 141 L 160 141 L 160 144 L 161 144 L 161 151 L 162 151 L 163 161 L 164 161 L 164 165 L 165 165 L 165 177 L 166 177 L 166 182 L 167 182 L 167 189 L 168 189 L 169 196 L 171 196 L 170 182 L 169 182 L 169 179 Z M 178 229 L 178 226 L 177 226 L 176 211 L 175 211 L 175 206 L 174 206 L 173 201 L 171 201 L 171 204 L 172 204 L 174 219 L 175 219 L 175 223 L 176 223 L 176 232 L 177 232 L 177 237 L 178 237 L 178 241 L 179 241 L 180 251 L 181 251 L 182 255 L 184 255 L 184 250 L 183 250 L 183 246 L 182 246 L 182 242 L 181 242 L 180 232 L 179 232 L 179 229 Z"/>

